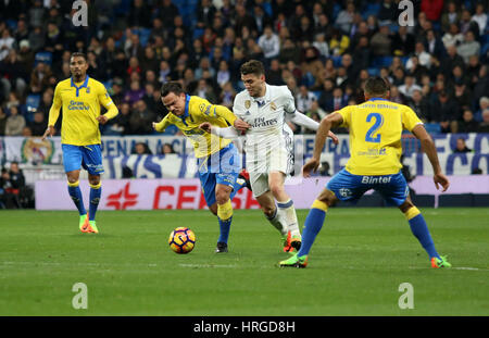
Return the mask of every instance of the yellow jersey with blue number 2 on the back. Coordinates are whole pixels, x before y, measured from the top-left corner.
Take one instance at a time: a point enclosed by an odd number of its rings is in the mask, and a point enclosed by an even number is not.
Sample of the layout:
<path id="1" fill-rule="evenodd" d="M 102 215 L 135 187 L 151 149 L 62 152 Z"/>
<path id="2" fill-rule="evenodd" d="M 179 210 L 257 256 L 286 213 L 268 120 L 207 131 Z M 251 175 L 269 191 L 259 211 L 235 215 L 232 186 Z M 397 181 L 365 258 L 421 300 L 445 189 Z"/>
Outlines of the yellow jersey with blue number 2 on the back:
<path id="1" fill-rule="evenodd" d="M 350 159 L 346 170 L 353 175 L 390 175 L 402 167 L 401 135 L 423 122 L 404 104 L 373 98 L 359 105 L 348 105 L 341 126 L 350 128 Z"/>

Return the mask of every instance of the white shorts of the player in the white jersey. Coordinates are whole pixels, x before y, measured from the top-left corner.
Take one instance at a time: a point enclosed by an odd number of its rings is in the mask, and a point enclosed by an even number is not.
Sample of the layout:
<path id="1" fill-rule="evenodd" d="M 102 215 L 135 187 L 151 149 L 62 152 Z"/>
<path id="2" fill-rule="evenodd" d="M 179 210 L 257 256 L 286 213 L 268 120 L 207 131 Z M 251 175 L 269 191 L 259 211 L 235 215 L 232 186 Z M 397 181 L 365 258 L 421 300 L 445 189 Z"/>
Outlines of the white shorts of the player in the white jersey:
<path id="1" fill-rule="evenodd" d="M 286 176 L 293 168 L 293 154 L 285 148 L 279 148 L 262 160 L 252 160 L 247 158 L 247 171 L 250 173 L 251 190 L 254 197 L 262 196 L 269 190 L 268 174 L 271 172 L 280 172 Z"/>

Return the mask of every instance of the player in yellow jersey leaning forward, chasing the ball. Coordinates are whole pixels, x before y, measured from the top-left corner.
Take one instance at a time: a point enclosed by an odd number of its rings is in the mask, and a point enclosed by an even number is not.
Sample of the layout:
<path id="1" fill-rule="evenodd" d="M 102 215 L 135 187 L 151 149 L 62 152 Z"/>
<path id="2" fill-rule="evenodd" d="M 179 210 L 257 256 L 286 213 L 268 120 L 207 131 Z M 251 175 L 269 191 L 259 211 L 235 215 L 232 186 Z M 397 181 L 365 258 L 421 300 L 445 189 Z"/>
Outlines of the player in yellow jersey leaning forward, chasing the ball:
<path id="1" fill-rule="evenodd" d="M 170 113 L 159 123 L 156 132 L 164 132 L 171 124 L 177 126 L 192 142 L 199 166 L 205 203 L 217 215 L 220 238 L 216 253 L 227 252 L 227 240 L 233 220 L 231 199 L 244 185 L 237 181 L 241 171 L 241 158 L 231 140 L 211 135 L 199 126 L 209 122 L 217 127 L 233 125 L 244 132 L 249 124 L 236 117 L 224 105 L 212 104 L 197 96 L 186 95 L 179 83 L 170 82 L 161 88 L 161 99 Z"/>

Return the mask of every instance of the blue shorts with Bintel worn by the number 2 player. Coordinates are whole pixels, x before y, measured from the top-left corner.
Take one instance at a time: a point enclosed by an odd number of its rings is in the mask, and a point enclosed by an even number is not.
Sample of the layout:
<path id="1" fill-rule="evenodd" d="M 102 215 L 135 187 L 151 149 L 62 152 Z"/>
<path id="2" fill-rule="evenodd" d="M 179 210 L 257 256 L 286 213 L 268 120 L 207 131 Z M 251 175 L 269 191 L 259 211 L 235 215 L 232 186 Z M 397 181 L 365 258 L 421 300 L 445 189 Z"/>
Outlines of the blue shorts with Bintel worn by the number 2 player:
<path id="1" fill-rule="evenodd" d="M 368 190 L 378 191 L 387 204 L 399 206 L 404 203 L 410 188 L 401 173 L 393 175 L 363 176 L 353 175 L 344 168 L 337 173 L 326 185 L 341 201 L 356 203 Z"/>

